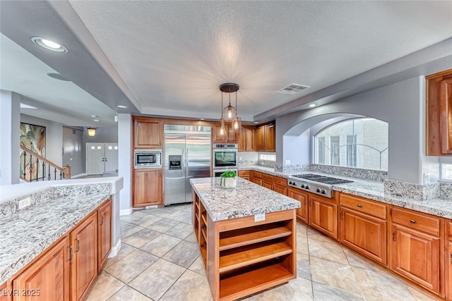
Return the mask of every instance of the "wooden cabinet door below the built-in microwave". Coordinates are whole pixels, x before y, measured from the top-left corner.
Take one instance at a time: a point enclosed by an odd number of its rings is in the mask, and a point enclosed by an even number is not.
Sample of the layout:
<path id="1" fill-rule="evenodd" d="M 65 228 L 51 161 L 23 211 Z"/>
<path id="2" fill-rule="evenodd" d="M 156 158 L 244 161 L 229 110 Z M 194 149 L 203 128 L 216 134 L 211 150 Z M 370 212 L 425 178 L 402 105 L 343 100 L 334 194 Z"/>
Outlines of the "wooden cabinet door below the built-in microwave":
<path id="1" fill-rule="evenodd" d="M 162 170 L 136 169 L 133 177 L 133 207 L 162 204 Z"/>

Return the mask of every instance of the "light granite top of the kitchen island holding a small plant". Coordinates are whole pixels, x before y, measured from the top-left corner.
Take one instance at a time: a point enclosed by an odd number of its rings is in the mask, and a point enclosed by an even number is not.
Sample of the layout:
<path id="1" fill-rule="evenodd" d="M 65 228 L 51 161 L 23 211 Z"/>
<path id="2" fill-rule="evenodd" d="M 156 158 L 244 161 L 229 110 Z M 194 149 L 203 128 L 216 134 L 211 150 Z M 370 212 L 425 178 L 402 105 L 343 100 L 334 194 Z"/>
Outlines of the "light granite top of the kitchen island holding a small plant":
<path id="1" fill-rule="evenodd" d="M 295 199 L 242 178 L 237 178 L 237 187 L 232 189 L 221 188 L 220 178 L 196 178 L 190 183 L 212 221 L 300 207 Z"/>

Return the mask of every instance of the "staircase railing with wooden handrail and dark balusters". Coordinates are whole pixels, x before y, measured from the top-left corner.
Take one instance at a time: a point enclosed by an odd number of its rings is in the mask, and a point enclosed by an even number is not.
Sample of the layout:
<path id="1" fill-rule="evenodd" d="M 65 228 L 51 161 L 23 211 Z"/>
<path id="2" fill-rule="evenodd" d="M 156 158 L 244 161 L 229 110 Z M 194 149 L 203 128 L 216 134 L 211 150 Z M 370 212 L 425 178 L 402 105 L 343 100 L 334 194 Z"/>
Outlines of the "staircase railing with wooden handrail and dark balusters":
<path id="1" fill-rule="evenodd" d="M 27 182 L 71 178 L 71 166 L 57 166 L 40 154 L 20 145 L 20 178 Z"/>

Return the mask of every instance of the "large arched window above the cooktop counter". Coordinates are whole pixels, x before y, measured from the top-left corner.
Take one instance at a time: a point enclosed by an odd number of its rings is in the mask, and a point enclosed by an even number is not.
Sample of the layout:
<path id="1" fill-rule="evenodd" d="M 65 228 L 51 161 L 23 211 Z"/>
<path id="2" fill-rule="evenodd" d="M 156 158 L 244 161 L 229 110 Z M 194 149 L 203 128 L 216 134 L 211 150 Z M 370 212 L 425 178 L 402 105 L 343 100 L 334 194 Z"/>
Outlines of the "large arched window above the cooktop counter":
<path id="1" fill-rule="evenodd" d="M 314 163 L 388 170 L 388 123 L 355 118 L 329 125 L 314 136 Z"/>

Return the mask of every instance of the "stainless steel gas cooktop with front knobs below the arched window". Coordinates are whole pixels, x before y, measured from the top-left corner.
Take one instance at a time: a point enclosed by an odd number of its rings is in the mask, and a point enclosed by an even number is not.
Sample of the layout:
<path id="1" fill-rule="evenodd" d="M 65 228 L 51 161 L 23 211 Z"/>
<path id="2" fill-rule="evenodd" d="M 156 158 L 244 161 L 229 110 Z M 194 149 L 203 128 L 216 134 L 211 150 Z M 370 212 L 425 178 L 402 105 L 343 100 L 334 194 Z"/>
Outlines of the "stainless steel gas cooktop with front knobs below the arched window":
<path id="1" fill-rule="evenodd" d="M 352 182 L 352 180 L 319 176 L 312 173 L 290 176 L 287 179 L 287 184 L 289 186 L 316 193 L 317 195 L 323 195 L 325 197 L 333 197 L 333 185 Z"/>

